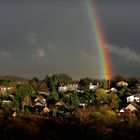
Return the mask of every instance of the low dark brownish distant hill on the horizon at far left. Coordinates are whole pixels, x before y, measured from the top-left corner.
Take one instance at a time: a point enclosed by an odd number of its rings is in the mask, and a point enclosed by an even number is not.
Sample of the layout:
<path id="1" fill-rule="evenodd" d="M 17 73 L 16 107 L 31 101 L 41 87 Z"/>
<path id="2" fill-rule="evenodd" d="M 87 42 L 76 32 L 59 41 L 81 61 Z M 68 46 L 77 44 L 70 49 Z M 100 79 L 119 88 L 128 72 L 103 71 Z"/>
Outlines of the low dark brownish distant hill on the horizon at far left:
<path id="1" fill-rule="evenodd" d="M 19 82 L 28 82 L 29 79 L 20 77 L 20 76 L 13 76 L 13 75 L 0 75 L 0 79 L 7 79 L 7 80 L 12 80 L 12 81 L 19 81 Z"/>

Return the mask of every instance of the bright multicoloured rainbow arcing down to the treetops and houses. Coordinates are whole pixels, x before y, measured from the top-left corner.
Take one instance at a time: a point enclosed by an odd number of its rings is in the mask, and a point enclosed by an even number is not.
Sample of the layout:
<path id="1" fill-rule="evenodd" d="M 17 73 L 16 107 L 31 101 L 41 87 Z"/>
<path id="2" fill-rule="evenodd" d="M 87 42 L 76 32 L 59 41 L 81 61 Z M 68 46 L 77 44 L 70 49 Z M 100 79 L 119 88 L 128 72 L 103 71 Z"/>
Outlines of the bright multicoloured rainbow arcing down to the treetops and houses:
<path id="1" fill-rule="evenodd" d="M 99 56 L 99 69 L 102 79 L 112 79 L 112 69 L 110 57 L 108 53 L 107 40 L 101 26 L 98 16 L 96 5 L 93 0 L 83 0 L 84 11 L 86 10 L 86 18 L 90 22 L 90 32 L 92 39 L 95 42 L 98 56 Z"/>

